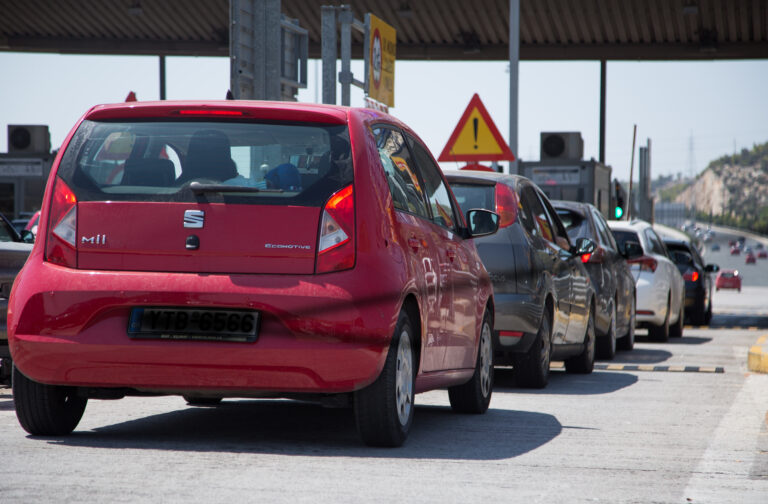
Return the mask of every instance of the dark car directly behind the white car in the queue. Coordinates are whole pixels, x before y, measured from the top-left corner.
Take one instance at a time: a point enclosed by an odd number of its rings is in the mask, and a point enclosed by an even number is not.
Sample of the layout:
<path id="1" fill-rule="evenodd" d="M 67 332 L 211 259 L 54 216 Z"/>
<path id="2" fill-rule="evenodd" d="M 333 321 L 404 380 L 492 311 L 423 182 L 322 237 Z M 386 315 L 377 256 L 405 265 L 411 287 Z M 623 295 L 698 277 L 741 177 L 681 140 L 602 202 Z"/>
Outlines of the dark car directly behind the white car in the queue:
<path id="1" fill-rule="evenodd" d="M 598 357 L 613 359 L 617 342 L 625 350 L 634 346 L 635 278 L 627 259 L 641 256 L 642 249 L 638 243 L 634 249 L 625 247 L 623 253 L 619 251 L 608 223 L 594 205 L 574 201 L 553 201 L 552 205 L 572 240 L 589 238 L 597 246 L 581 259 L 595 289 Z M 632 250 L 632 255 L 623 255 Z"/>

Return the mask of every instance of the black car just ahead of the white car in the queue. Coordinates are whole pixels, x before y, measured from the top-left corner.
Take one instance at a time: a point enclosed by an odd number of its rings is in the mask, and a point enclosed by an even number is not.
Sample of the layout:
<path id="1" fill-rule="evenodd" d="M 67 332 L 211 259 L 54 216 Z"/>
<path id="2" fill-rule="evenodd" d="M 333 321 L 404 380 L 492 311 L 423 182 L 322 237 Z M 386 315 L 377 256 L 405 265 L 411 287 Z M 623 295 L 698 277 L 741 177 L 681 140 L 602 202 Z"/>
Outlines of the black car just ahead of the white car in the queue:
<path id="1" fill-rule="evenodd" d="M 664 237 L 672 260 L 685 280 L 685 318 L 694 325 L 709 324 L 712 319 L 712 287 L 710 273 L 720 270 L 717 264 L 705 264 L 699 251 L 688 240 Z"/>

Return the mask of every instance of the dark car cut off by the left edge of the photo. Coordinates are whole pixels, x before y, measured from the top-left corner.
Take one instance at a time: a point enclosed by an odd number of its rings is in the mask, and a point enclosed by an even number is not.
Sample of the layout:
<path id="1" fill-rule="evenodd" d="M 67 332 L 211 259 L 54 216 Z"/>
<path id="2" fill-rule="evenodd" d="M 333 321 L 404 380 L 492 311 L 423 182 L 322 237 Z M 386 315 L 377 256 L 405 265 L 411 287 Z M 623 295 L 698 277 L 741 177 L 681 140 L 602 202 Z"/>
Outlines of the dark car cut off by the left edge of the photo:
<path id="1" fill-rule="evenodd" d="M 8 351 L 6 316 L 8 297 L 16 274 L 32 250 L 34 237 L 29 231 L 16 230 L 5 215 L 0 214 L 0 384 L 10 384 L 11 354 Z"/>

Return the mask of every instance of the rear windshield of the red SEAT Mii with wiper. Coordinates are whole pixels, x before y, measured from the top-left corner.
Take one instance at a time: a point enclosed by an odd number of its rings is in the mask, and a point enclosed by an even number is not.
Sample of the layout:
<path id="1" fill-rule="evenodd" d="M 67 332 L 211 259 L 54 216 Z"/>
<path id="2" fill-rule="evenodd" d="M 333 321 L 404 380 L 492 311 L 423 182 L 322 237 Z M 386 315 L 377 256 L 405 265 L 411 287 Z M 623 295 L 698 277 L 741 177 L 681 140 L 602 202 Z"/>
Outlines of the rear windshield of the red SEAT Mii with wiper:
<path id="1" fill-rule="evenodd" d="M 346 126 L 213 121 L 84 121 L 58 174 L 80 201 L 299 206 L 353 179 Z"/>

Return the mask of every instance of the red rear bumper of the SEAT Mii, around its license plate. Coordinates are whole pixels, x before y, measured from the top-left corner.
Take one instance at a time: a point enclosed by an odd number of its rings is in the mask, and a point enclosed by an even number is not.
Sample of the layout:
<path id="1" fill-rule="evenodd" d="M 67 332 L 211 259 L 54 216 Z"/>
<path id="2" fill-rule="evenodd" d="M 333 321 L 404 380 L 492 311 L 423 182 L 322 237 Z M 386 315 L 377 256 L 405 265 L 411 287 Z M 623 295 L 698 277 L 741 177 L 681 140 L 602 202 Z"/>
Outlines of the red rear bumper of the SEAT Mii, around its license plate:
<path id="1" fill-rule="evenodd" d="M 379 375 L 399 293 L 371 298 L 351 272 L 317 276 L 86 272 L 38 263 L 9 311 L 10 350 L 48 384 L 143 391 L 349 392 Z M 45 282 L 35 280 L 44 278 Z M 371 282 L 368 285 L 374 285 Z M 382 280 L 379 285 L 386 285 Z M 253 343 L 137 340 L 133 306 L 249 308 Z"/>

